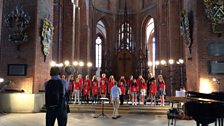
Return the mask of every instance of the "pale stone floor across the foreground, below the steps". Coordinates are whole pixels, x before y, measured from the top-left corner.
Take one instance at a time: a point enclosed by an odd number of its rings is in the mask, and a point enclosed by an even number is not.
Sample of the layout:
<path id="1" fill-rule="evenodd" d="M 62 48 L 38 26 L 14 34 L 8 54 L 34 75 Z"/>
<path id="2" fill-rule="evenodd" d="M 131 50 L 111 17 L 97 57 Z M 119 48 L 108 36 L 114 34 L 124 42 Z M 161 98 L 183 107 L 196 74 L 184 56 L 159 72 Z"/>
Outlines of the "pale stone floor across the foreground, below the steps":
<path id="1" fill-rule="evenodd" d="M 93 118 L 93 113 L 69 113 L 67 126 L 167 126 L 166 115 L 124 114 L 119 119 Z M 177 120 L 176 126 L 195 126 L 193 120 Z M 0 126 L 45 126 L 45 113 L 0 114 Z M 55 124 L 55 126 L 57 126 Z"/>

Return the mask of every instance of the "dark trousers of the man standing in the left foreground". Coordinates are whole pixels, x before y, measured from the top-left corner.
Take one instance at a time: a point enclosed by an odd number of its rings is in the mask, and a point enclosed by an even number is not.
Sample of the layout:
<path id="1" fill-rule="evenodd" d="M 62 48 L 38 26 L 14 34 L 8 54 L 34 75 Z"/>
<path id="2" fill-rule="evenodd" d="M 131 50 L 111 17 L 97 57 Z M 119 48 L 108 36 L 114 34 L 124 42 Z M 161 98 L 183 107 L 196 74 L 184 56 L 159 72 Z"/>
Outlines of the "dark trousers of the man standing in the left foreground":
<path id="1" fill-rule="evenodd" d="M 47 107 L 46 112 L 46 126 L 54 126 L 55 120 L 58 120 L 58 126 L 67 125 L 67 106 L 50 108 Z"/>

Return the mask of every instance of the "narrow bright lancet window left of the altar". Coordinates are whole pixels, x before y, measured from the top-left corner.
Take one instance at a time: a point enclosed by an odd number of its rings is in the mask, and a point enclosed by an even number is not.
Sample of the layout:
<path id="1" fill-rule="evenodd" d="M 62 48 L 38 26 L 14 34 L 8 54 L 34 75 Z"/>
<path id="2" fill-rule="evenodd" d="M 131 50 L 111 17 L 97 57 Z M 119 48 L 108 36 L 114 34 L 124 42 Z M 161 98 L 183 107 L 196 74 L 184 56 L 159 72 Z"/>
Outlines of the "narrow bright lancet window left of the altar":
<path id="1" fill-rule="evenodd" d="M 95 50 L 96 50 L 96 68 L 101 67 L 102 63 L 102 39 L 98 36 L 96 39 L 96 44 L 95 44 Z"/>

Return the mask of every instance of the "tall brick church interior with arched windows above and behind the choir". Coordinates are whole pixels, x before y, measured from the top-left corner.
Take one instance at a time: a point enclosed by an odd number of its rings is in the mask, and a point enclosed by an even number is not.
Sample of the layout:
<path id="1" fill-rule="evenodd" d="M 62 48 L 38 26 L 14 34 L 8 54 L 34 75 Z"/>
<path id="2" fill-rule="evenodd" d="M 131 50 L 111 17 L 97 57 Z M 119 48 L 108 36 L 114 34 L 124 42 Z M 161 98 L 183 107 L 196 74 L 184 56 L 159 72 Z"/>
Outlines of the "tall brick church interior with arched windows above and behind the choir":
<path id="1" fill-rule="evenodd" d="M 83 77 L 162 74 L 168 96 L 223 91 L 223 8 L 223 0 L 0 0 L 0 77 L 38 94 L 52 63 L 70 64 Z"/>

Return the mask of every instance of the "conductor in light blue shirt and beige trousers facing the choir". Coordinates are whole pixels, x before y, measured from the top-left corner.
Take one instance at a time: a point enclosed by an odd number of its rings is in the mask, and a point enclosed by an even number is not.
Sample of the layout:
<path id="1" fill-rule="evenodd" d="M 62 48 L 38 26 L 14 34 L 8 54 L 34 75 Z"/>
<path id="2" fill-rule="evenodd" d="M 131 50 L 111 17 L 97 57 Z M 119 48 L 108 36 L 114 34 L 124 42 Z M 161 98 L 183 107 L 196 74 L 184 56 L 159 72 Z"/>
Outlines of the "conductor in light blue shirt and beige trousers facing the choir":
<path id="1" fill-rule="evenodd" d="M 119 87 L 117 87 L 117 83 L 114 83 L 114 86 L 111 88 L 111 98 L 112 98 L 112 103 L 114 108 L 112 119 L 117 119 L 120 117 L 120 115 L 118 115 L 118 108 L 120 105 L 120 98 L 119 98 L 120 95 L 121 95 L 121 90 Z"/>

